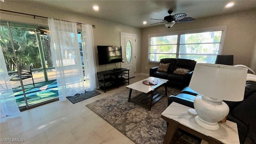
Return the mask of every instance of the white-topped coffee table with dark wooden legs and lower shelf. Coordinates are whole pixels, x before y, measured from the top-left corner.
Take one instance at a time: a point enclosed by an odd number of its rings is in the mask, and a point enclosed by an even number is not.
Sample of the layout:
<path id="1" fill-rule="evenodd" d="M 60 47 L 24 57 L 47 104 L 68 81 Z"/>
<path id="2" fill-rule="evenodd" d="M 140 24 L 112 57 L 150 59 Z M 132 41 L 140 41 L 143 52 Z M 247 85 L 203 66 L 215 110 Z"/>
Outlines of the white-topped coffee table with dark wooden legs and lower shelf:
<path id="1" fill-rule="evenodd" d="M 146 85 L 146 84 L 143 84 L 144 80 L 154 80 L 154 81 L 157 81 L 157 84 Z M 165 96 L 167 96 L 166 82 L 168 82 L 168 80 L 165 80 L 162 78 L 155 78 L 155 77 L 149 77 L 144 80 L 141 80 L 126 86 L 126 88 L 130 88 L 128 102 L 130 101 L 134 102 L 140 106 L 148 108 L 148 111 L 150 111 L 151 106 L 164 96 L 164 94 L 156 91 L 158 88 L 160 88 L 161 86 L 165 86 Z M 138 90 L 142 93 L 131 98 L 132 90 Z"/>

